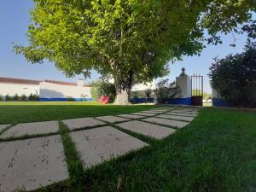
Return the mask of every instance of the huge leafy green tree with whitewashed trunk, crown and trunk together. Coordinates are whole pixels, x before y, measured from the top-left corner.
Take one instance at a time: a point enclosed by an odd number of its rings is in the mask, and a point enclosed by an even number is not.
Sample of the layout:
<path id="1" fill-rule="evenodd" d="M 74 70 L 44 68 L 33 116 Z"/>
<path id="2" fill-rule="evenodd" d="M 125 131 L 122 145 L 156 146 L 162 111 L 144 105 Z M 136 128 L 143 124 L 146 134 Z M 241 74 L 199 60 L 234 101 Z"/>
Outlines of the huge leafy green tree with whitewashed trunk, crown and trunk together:
<path id="1" fill-rule="evenodd" d="M 206 40 L 221 43 L 218 32 L 254 32 L 251 0 L 33 1 L 29 45 L 16 53 L 54 61 L 67 76 L 94 69 L 113 78 L 117 104 L 129 103 L 133 84 L 165 76 L 169 61 L 199 54 Z"/>

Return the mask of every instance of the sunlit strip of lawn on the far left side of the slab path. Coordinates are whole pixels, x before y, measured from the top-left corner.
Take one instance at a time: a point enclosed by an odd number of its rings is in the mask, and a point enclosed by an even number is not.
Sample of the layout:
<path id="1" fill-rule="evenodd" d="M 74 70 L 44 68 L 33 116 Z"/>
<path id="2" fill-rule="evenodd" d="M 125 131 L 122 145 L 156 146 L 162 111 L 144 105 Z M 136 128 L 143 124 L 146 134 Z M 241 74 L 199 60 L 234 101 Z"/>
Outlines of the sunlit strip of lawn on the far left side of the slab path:
<path id="1" fill-rule="evenodd" d="M 102 105 L 99 102 L 0 102 L 0 125 L 132 113 L 156 107 Z"/>

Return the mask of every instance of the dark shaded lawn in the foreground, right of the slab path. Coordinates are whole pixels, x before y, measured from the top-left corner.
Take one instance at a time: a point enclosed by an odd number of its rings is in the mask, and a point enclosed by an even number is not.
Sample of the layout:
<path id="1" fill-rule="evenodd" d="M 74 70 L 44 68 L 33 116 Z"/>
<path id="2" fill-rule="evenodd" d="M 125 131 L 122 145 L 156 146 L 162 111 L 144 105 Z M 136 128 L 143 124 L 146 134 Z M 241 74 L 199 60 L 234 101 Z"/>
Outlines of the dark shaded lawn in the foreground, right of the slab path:
<path id="1" fill-rule="evenodd" d="M 117 191 L 118 181 L 119 192 L 256 191 L 256 113 L 201 109 L 190 125 L 161 142 L 79 175 L 79 189 L 86 192 Z"/>

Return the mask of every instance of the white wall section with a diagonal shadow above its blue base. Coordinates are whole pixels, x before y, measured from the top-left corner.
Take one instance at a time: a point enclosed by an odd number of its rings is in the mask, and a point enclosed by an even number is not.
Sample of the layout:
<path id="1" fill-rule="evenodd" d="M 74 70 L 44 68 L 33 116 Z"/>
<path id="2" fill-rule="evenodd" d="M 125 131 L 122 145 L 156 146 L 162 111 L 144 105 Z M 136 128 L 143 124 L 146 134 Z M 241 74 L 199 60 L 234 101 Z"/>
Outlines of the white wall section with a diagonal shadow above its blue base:
<path id="1" fill-rule="evenodd" d="M 91 98 L 90 87 L 40 83 L 40 98 Z"/>

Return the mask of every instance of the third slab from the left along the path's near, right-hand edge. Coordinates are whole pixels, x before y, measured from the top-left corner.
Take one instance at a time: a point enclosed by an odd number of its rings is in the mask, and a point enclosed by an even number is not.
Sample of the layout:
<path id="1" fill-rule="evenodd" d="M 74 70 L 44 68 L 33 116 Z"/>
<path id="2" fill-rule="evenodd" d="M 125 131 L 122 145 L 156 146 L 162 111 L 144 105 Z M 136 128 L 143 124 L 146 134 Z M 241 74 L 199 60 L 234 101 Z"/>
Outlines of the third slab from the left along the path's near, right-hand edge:
<path id="1" fill-rule="evenodd" d="M 172 128 L 167 128 L 161 125 L 149 124 L 138 120 L 133 120 L 117 125 L 125 130 L 137 132 L 148 137 L 154 137 L 156 139 L 162 139 L 176 131 Z"/>

